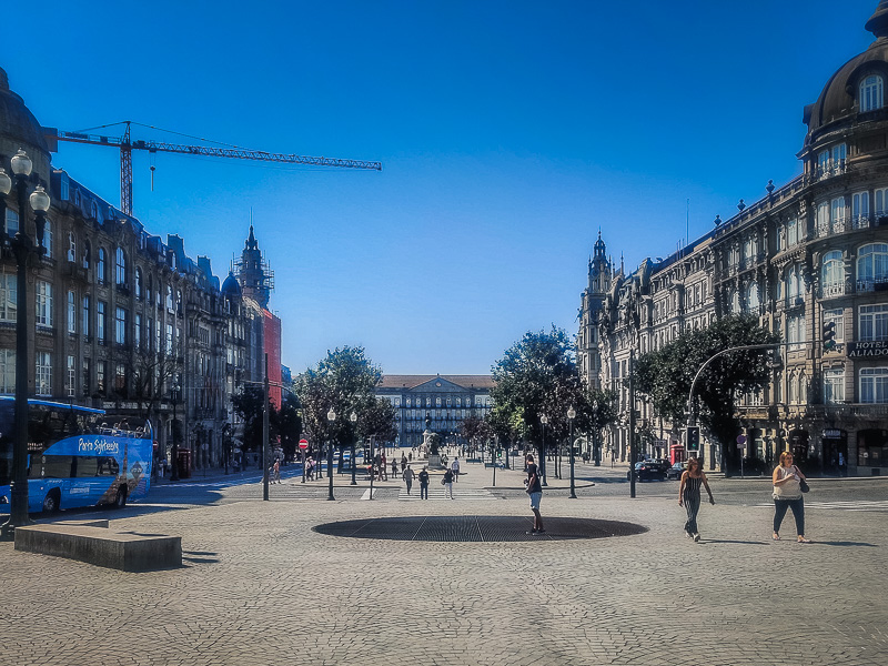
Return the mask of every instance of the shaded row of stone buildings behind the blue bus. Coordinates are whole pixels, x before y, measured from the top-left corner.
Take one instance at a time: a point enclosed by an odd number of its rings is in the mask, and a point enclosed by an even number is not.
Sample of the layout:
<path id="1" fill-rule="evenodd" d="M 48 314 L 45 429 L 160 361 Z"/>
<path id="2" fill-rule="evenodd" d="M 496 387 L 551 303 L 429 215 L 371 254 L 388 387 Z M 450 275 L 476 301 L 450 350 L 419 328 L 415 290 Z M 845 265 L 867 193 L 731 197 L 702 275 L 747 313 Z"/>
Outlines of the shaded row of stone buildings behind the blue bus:
<path id="1" fill-rule="evenodd" d="M 34 162 L 33 184 L 51 198 L 47 253 L 32 261 L 27 283 L 34 316 L 30 395 L 104 408 L 109 424 L 150 418 L 158 455 L 169 455 L 175 434 L 191 466 L 221 464 L 236 425 L 231 396 L 243 382 L 262 380 L 263 306 L 242 293 L 233 274 L 220 285 L 210 260 L 189 258 L 180 236 L 164 242 L 53 169 L 40 124 L 0 70 L 7 172 L 19 149 Z M 21 216 L 13 194 L 3 216 L 14 234 Z M 27 219 L 33 238 L 30 211 Z M 16 384 L 16 262 L 4 251 L 0 393 L 7 394 Z M 276 331 L 280 351 L 280 320 Z M 280 352 L 276 359 L 280 375 Z"/>

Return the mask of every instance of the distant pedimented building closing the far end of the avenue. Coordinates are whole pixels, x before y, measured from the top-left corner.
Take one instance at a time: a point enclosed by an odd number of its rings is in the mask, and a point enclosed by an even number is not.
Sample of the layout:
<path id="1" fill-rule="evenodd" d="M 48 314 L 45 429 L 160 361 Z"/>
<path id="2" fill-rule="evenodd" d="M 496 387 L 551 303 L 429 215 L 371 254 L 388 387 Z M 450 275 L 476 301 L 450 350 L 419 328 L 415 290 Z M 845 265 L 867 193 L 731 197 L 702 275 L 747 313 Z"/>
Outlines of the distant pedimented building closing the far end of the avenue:
<path id="1" fill-rule="evenodd" d="M 484 418 L 491 411 L 491 375 L 384 375 L 376 396 L 395 407 L 397 442 L 418 446 L 426 416 L 430 430 L 447 444 L 462 444 L 460 425 L 465 418 Z"/>

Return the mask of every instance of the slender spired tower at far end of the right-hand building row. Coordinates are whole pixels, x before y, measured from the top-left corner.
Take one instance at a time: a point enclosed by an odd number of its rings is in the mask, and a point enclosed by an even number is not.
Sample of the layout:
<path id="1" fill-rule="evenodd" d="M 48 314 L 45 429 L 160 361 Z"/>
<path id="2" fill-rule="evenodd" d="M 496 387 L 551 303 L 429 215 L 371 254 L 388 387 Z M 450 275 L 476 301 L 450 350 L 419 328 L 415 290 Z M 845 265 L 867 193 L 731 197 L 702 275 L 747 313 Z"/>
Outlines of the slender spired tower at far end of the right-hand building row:
<path id="1" fill-rule="evenodd" d="M 583 292 L 577 336 L 579 375 L 589 389 L 601 387 L 602 354 L 598 340 L 598 320 L 610 289 L 613 268 L 607 260 L 607 248 L 598 231 L 592 259 L 589 259 L 588 286 Z"/>

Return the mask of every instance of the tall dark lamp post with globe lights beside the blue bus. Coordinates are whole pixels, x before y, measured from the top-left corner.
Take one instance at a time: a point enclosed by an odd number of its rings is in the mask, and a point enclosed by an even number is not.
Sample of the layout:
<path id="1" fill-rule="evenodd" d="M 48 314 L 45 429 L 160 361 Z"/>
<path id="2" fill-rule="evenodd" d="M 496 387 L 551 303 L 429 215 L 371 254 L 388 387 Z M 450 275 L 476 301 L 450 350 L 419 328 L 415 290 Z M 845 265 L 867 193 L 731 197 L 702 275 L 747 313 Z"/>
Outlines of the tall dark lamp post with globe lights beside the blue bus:
<path id="1" fill-rule="evenodd" d="M 0 229 L 2 229 L 3 246 L 9 246 L 16 258 L 16 404 L 14 438 L 12 448 L 12 478 L 10 481 L 9 521 L 0 527 L 0 537 L 14 538 L 16 527 L 28 525 L 28 367 L 31 354 L 28 350 L 28 261 L 31 255 L 42 256 L 46 213 L 49 210 L 49 194 L 42 185 L 37 185 L 28 196 L 28 181 L 31 180 L 31 159 L 19 149 L 12 158 L 12 175 L 16 182 L 19 204 L 19 231 L 13 238 L 7 232 L 6 198 L 12 189 L 12 181 L 6 171 L 0 169 Z M 34 211 L 34 235 L 37 244 L 31 241 L 26 229 L 28 223 L 28 203 Z"/>

